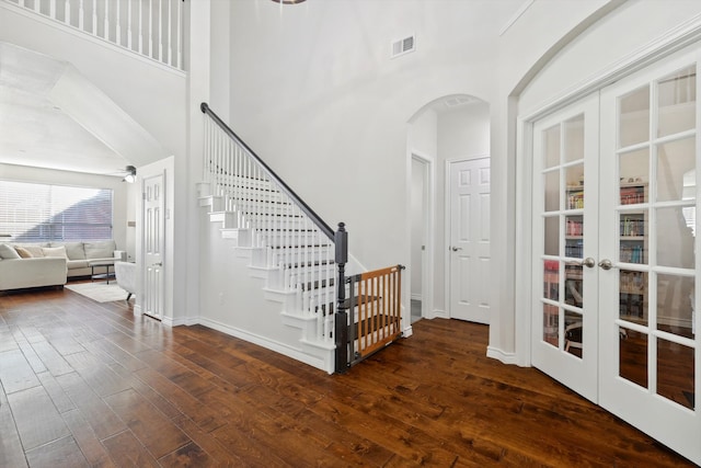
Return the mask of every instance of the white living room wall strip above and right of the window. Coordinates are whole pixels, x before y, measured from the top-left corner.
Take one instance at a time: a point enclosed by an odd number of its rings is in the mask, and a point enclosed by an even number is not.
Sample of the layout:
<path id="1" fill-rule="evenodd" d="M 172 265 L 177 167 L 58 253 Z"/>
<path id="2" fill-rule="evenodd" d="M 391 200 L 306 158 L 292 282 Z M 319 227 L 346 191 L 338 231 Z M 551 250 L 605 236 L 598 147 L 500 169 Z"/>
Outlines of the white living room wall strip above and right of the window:
<path id="1" fill-rule="evenodd" d="M 0 180 L 94 189 L 112 189 L 114 195 L 112 212 L 114 222 L 112 231 L 113 237 L 117 243 L 117 250 L 127 250 L 128 253 L 134 255 L 134 250 L 128 250 L 129 242 L 127 241 L 129 236 L 127 231 L 127 212 L 129 209 L 128 191 L 130 184 L 122 182 L 120 178 L 0 163 Z"/>

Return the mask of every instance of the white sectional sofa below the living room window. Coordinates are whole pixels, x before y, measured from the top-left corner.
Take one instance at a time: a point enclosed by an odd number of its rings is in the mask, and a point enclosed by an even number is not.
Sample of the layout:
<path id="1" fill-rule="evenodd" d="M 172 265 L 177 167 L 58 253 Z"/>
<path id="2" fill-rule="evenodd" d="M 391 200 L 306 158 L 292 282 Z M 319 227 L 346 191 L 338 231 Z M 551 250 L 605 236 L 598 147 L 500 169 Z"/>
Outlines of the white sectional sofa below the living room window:
<path id="1" fill-rule="evenodd" d="M 0 244 L 0 290 L 64 285 L 68 277 L 91 275 L 92 263 L 114 263 L 123 256 L 114 240 L 3 243 Z M 95 269 L 94 273 L 105 272 Z"/>

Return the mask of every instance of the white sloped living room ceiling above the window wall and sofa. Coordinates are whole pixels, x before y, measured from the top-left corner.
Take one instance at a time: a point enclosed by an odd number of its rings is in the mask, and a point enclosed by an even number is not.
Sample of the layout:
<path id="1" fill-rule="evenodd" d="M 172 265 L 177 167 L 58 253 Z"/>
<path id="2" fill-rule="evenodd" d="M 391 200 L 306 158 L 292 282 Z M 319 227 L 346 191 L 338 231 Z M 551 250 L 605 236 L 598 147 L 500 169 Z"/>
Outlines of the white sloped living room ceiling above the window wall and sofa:
<path id="1" fill-rule="evenodd" d="M 80 85 L 83 101 L 106 98 L 70 64 L 0 42 L 1 163 L 122 174 L 130 162 L 66 109 L 74 106 L 58 91 L 71 84 Z"/>

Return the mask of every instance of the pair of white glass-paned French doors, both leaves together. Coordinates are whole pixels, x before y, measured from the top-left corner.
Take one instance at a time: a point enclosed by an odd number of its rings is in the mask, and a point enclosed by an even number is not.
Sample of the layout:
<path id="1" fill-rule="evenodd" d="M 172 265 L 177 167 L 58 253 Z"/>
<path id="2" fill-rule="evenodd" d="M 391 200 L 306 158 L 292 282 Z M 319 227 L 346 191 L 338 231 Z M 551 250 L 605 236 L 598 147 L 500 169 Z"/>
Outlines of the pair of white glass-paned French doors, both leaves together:
<path id="1" fill-rule="evenodd" d="M 701 464 L 698 59 L 533 126 L 531 357 Z"/>

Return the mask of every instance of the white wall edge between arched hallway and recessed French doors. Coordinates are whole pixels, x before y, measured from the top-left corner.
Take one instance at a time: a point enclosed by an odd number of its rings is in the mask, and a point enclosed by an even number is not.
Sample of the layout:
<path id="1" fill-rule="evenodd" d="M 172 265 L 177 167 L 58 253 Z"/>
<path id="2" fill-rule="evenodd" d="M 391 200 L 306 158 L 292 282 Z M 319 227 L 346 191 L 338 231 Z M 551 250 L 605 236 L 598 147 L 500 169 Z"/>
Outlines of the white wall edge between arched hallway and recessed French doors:
<path id="1" fill-rule="evenodd" d="M 490 322 L 487 354 L 516 363 L 515 258 L 516 213 L 516 118 L 517 96 L 526 83 L 567 42 L 618 3 L 610 0 L 535 1 L 501 34 L 501 59 L 492 70 L 495 90 L 491 112 L 491 244 L 494 272 L 501 272 L 492 290 L 494 315 Z M 553 19 L 556 19 L 554 21 Z M 588 58 L 587 58 L 588 60 Z"/>

